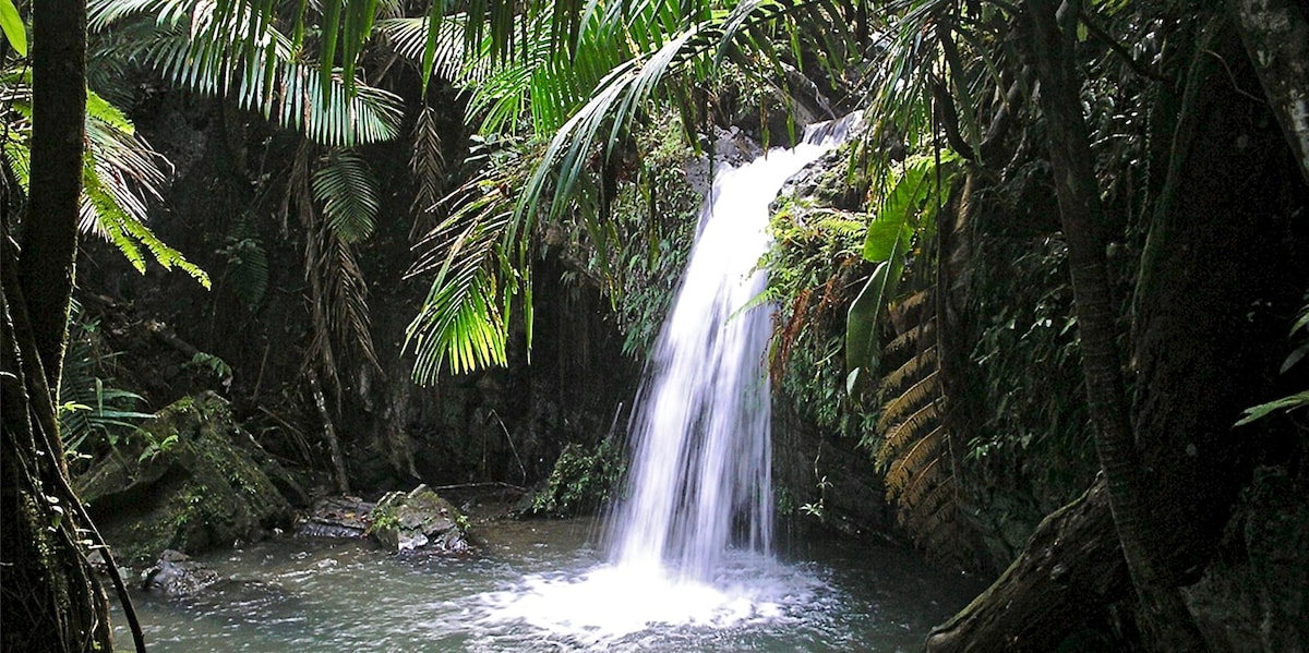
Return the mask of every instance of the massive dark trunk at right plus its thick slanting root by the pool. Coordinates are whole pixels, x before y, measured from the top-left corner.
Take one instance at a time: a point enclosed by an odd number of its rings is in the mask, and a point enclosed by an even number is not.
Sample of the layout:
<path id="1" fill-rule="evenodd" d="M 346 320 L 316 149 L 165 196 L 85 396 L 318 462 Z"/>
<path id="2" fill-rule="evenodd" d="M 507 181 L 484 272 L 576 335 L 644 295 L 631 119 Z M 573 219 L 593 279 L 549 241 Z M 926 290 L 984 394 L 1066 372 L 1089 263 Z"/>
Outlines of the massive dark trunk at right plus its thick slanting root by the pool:
<path id="1" fill-rule="evenodd" d="M 1285 325 L 1309 279 L 1309 224 L 1295 217 L 1309 207 L 1309 187 L 1267 110 L 1241 93 L 1250 69 L 1223 64 L 1238 59 L 1233 38 L 1206 37 L 1195 48 L 1136 284 L 1132 423 L 1152 482 L 1143 496 L 1161 506 L 1147 554 L 1165 585 L 1192 581 L 1212 560 L 1253 461 L 1276 446 L 1232 424 L 1276 397 Z M 1126 595 L 1106 489 L 1101 478 L 1046 518 L 927 649 L 1050 650 Z"/>

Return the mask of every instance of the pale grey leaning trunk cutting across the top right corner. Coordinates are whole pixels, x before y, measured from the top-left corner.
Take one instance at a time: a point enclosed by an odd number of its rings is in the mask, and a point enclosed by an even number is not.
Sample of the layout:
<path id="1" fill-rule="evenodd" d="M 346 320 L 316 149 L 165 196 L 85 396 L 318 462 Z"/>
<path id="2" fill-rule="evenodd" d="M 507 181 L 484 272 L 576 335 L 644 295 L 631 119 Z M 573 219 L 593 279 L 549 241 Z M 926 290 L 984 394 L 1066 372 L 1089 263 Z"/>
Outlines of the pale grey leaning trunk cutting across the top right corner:
<path id="1" fill-rule="evenodd" d="M 1230 0 L 1268 106 L 1309 182 L 1309 17 L 1295 0 Z"/>

